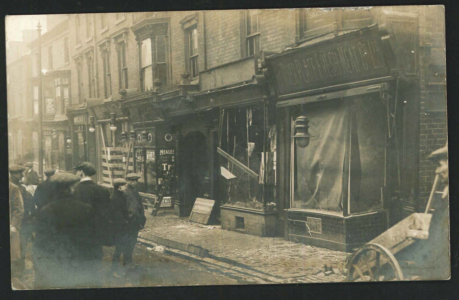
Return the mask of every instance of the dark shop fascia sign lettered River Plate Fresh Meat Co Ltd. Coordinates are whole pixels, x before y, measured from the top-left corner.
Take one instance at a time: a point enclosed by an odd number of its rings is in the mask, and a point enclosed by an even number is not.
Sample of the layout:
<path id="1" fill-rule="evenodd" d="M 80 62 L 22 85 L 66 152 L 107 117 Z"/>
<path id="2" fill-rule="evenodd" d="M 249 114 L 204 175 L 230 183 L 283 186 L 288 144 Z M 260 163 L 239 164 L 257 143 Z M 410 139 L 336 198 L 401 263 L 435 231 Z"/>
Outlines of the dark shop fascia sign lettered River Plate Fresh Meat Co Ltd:
<path id="1" fill-rule="evenodd" d="M 278 96 L 390 75 L 377 28 L 267 58 Z"/>

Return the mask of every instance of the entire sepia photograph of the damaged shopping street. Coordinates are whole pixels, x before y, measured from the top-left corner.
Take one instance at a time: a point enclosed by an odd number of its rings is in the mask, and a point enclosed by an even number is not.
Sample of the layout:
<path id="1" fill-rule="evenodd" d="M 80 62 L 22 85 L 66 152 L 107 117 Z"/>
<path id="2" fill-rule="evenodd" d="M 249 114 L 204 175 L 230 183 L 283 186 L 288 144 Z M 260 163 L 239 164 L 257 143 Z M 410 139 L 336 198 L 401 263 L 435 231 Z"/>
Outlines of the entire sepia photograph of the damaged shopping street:
<path id="1" fill-rule="evenodd" d="M 13 290 L 450 278 L 444 6 L 5 26 Z"/>

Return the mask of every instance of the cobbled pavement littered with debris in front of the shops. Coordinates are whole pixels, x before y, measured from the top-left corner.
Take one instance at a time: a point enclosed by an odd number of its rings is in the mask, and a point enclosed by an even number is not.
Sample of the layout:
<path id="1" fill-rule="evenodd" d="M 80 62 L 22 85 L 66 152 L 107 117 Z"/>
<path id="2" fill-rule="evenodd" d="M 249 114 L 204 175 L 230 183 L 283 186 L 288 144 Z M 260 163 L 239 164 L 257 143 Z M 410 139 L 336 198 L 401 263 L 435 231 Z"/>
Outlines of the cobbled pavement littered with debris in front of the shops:
<path id="1" fill-rule="evenodd" d="M 147 223 L 140 235 L 147 237 L 145 234 L 149 234 L 146 239 L 155 239 L 160 244 L 165 242 L 151 236 L 201 247 L 217 261 L 230 262 L 264 274 L 266 278 L 281 279 L 279 282 L 340 282 L 344 279 L 341 274 L 347 257 L 344 252 L 294 243 L 281 237 L 258 237 L 221 230 L 220 226 L 201 225 L 169 212 L 157 217 L 148 212 L 146 215 Z M 179 248 L 174 247 L 173 242 L 171 248 Z M 324 272 L 324 265 L 334 271 Z"/>

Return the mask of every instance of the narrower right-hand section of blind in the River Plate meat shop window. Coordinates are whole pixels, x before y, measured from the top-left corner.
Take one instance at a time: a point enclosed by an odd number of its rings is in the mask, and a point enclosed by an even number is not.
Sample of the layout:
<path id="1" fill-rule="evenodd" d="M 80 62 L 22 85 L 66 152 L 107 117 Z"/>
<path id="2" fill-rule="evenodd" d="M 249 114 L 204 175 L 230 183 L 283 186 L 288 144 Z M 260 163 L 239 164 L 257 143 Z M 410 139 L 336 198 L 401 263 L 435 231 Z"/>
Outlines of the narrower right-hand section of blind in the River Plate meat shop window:
<path id="1" fill-rule="evenodd" d="M 356 97 L 352 105 L 350 212 L 382 208 L 386 147 L 385 105 Z"/>

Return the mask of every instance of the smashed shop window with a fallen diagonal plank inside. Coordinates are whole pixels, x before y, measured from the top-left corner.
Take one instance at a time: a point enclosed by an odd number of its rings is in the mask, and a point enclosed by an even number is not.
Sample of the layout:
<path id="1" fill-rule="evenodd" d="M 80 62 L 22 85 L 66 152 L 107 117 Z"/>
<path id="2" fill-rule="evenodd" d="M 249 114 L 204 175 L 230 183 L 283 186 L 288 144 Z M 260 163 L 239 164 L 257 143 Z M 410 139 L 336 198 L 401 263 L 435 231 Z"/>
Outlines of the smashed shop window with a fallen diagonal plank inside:
<path id="1" fill-rule="evenodd" d="M 218 149 L 222 204 L 275 208 L 275 141 L 265 142 L 265 116 L 263 104 L 224 111 Z M 275 137 L 275 125 L 267 125 L 266 132 Z"/>

